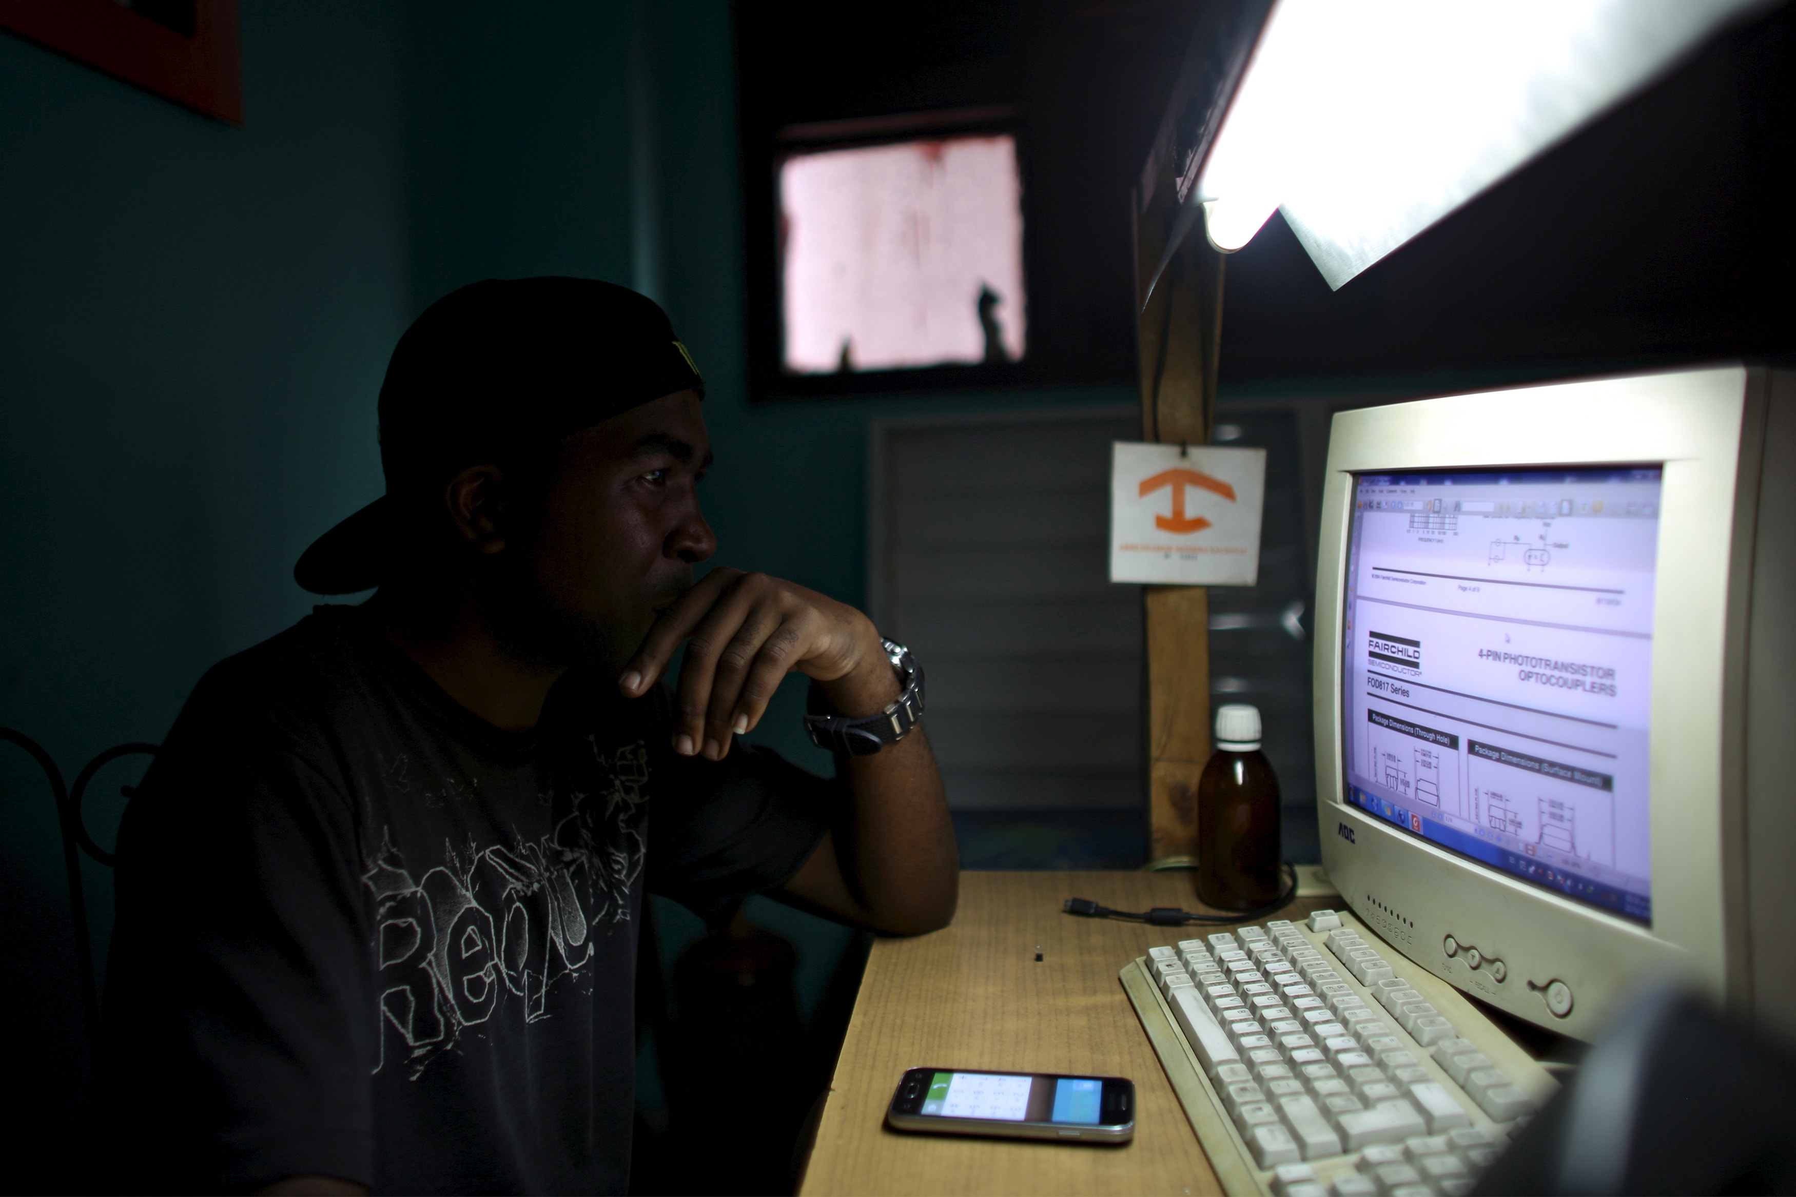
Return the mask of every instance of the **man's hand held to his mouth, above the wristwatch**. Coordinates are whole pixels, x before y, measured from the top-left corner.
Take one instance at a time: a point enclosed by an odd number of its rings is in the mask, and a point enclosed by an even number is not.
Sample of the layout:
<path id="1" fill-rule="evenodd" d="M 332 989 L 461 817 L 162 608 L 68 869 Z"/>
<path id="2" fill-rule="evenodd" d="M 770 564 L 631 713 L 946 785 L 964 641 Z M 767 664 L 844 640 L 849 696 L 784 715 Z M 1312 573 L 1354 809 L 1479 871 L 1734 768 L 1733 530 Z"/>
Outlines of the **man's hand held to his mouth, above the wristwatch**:
<path id="1" fill-rule="evenodd" d="M 731 736 L 762 721 L 792 671 L 823 682 L 830 705 L 850 718 L 873 714 L 900 693 L 880 635 L 858 610 L 727 567 L 661 612 L 618 687 L 630 698 L 648 693 L 688 637 L 674 729 L 674 750 L 682 756 L 720 761 Z"/>

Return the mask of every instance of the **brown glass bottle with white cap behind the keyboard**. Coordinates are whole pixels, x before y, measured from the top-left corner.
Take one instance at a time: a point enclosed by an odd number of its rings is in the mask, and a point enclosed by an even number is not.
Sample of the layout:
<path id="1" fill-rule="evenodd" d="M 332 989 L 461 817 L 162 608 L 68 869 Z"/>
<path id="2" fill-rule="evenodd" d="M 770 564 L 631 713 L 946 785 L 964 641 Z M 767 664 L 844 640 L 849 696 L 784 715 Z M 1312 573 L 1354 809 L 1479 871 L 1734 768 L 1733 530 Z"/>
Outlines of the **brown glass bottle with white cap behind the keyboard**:
<path id="1" fill-rule="evenodd" d="M 1216 754 L 1198 779 L 1198 897 L 1252 910 L 1282 888 L 1279 779 L 1259 750 L 1259 711 L 1230 703 L 1216 723 Z"/>

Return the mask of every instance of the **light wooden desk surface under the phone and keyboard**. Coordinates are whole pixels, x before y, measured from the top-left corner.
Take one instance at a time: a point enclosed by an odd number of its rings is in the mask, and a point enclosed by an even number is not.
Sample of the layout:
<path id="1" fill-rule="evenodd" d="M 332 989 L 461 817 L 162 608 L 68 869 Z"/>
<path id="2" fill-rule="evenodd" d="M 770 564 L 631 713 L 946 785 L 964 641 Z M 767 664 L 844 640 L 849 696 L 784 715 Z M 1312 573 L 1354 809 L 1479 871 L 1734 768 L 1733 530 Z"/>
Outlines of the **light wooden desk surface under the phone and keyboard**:
<path id="1" fill-rule="evenodd" d="M 954 926 L 873 944 L 799 1190 L 828 1193 L 1219 1193 L 1117 971 L 1216 928 L 1061 913 L 1202 910 L 1189 872 L 964 872 Z M 1295 919 L 1333 899 L 1297 899 Z M 1034 953 L 1042 953 L 1036 964 Z M 964 1140 L 885 1129 L 905 1068 L 1101 1073 L 1135 1082 L 1126 1147 Z"/>

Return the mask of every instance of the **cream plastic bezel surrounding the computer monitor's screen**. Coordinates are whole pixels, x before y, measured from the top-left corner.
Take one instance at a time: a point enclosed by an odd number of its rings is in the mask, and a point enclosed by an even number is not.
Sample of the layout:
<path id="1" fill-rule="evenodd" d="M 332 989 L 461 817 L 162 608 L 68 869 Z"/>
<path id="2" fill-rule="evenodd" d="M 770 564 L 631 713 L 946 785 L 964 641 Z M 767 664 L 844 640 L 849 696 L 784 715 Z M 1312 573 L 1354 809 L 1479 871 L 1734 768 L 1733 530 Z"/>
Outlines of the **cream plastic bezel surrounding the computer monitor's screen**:
<path id="1" fill-rule="evenodd" d="M 1444 980 L 1554 1030 L 1588 1037 L 1645 971 L 1721 996 L 1742 852 L 1724 711 L 1740 702 L 1756 459 L 1742 454 L 1762 373 L 1683 370 L 1482 391 L 1334 416 L 1316 560 L 1315 736 L 1322 860 L 1343 899 Z M 1543 432 L 1546 431 L 1546 432 Z M 1356 476 L 1404 470 L 1660 465 L 1660 569 L 1649 756 L 1652 924 L 1555 894 L 1401 831 L 1345 800 L 1342 623 Z M 1742 465 L 1746 468 L 1742 468 Z M 1744 520 L 1744 522 L 1742 522 Z M 1737 551 L 1742 538 L 1746 551 Z M 1737 610 L 1739 608 L 1739 610 Z M 1676 626 L 1679 635 L 1658 628 Z M 1730 639 L 1731 637 L 1731 639 Z M 1665 729 L 1681 729 L 1676 738 Z M 1735 779 L 1737 781 L 1737 779 Z M 1663 795 L 1679 795 L 1676 802 Z M 1692 867 L 1695 861 L 1697 867 Z M 1706 861 L 1706 865 L 1704 865 Z M 1730 881 L 1731 879 L 1731 881 Z M 1444 935 L 1507 962 L 1494 982 Z M 1737 933 L 1737 931 L 1735 931 Z M 1577 998 L 1557 1014 L 1546 991 Z"/>

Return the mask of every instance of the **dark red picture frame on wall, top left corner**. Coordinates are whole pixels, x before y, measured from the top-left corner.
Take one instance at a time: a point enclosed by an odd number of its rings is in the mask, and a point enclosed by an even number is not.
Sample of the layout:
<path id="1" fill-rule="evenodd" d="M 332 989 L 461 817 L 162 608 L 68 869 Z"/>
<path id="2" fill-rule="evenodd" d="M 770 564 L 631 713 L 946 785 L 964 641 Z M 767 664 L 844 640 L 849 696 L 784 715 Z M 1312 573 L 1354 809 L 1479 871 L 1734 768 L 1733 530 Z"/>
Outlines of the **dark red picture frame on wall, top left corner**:
<path id="1" fill-rule="evenodd" d="M 226 124 L 242 124 L 237 0 L 0 0 L 0 27 Z"/>

